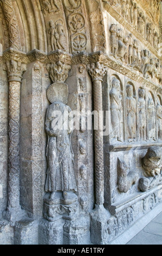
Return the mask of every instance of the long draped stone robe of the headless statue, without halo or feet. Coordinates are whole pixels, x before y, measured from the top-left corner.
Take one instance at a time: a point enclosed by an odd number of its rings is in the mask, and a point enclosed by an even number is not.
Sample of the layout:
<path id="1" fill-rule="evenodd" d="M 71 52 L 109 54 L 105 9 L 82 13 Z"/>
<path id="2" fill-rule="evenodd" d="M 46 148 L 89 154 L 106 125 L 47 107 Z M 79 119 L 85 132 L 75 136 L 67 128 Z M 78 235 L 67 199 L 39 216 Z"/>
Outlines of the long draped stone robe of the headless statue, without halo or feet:
<path id="1" fill-rule="evenodd" d="M 72 110 L 61 102 L 54 102 L 47 109 L 48 144 L 46 155 L 48 169 L 46 192 L 76 191 L 73 170 L 74 155 L 71 145 L 73 126 L 70 124 L 70 113 Z M 56 117 L 57 114 L 59 117 Z"/>

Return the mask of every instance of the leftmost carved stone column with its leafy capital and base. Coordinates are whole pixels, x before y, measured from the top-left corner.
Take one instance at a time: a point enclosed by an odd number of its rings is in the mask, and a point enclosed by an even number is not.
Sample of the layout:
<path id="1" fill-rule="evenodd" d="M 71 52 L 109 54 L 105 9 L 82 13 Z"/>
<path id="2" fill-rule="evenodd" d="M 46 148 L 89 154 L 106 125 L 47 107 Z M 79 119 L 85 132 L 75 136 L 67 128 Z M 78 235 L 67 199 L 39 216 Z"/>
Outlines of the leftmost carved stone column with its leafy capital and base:
<path id="1" fill-rule="evenodd" d="M 4 217 L 13 224 L 23 214 L 20 206 L 20 90 L 25 64 L 12 59 L 10 53 L 4 53 L 9 79 L 8 208 Z"/>

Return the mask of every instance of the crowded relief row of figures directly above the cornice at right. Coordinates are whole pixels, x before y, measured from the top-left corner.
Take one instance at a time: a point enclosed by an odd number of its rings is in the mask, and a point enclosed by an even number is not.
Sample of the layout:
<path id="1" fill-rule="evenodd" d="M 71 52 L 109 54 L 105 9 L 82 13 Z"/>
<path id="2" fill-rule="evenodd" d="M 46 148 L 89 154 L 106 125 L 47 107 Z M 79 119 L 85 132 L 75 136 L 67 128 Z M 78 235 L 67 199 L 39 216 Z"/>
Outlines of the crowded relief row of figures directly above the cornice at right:
<path id="1" fill-rule="evenodd" d="M 162 82 L 162 67 L 160 60 L 148 50 L 141 48 L 140 42 L 132 34 L 124 33 L 118 25 L 112 24 L 111 32 L 111 55 L 121 60 L 122 63 L 140 71 L 144 77 L 157 78 Z"/>

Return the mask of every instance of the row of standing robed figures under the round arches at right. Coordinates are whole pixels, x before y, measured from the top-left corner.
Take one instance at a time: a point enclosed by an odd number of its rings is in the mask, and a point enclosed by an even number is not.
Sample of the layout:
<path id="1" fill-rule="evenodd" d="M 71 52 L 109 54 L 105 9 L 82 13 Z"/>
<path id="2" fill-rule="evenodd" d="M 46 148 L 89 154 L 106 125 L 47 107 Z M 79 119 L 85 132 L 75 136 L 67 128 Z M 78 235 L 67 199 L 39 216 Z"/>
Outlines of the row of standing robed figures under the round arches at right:
<path id="1" fill-rule="evenodd" d="M 135 99 L 132 84 L 126 86 L 126 130 L 128 142 L 157 141 L 162 139 L 162 106 L 161 97 L 155 101 L 151 92 L 146 97 L 145 89 L 139 88 L 138 99 Z M 112 80 L 111 100 L 111 141 L 124 142 L 124 99 L 121 83 L 118 78 Z"/>

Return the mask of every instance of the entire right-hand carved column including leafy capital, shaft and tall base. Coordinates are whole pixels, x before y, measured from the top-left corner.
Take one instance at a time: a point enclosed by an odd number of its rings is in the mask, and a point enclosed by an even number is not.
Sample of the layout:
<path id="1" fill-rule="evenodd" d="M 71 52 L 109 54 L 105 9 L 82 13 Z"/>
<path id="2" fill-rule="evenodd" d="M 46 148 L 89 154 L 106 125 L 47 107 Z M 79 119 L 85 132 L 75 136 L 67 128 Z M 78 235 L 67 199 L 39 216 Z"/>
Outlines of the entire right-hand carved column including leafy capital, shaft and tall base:
<path id="1" fill-rule="evenodd" d="M 101 244 L 103 228 L 108 213 L 103 207 L 104 203 L 104 168 L 103 168 L 103 113 L 102 113 L 102 79 L 107 72 L 106 66 L 99 62 L 87 66 L 93 81 L 94 101 L 94 154 L 95 154 L 95 209 L 91 212 L 91 241 Z M 98 117 L 97 117 L 98 115 Z M 96 235 L 96 230 L 98 235 Z"/>

